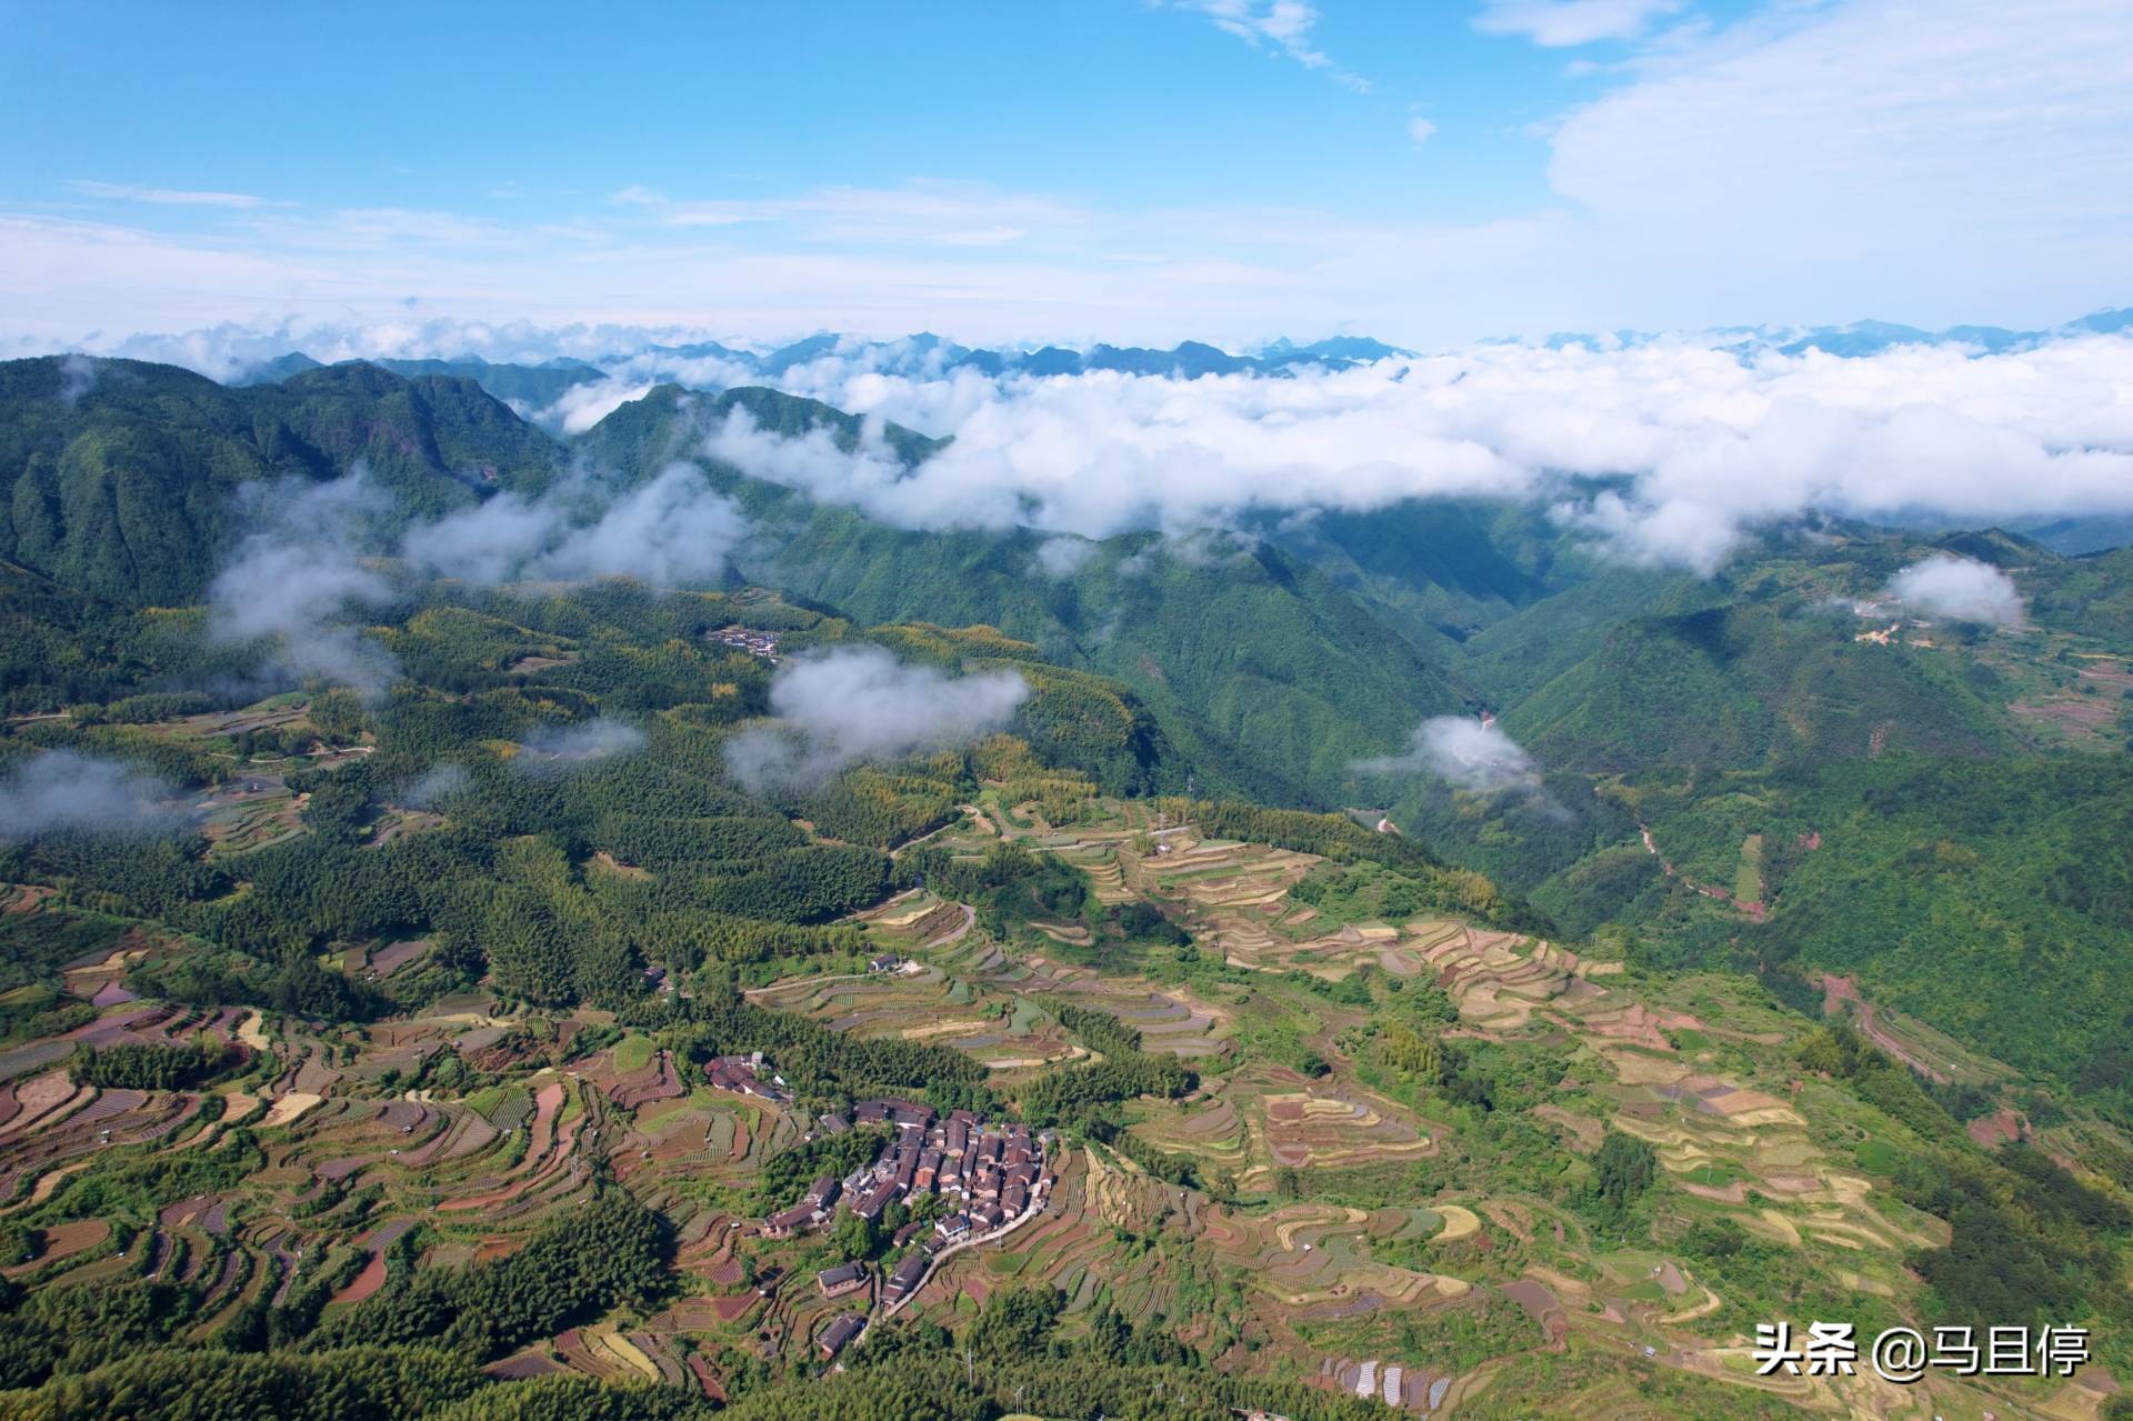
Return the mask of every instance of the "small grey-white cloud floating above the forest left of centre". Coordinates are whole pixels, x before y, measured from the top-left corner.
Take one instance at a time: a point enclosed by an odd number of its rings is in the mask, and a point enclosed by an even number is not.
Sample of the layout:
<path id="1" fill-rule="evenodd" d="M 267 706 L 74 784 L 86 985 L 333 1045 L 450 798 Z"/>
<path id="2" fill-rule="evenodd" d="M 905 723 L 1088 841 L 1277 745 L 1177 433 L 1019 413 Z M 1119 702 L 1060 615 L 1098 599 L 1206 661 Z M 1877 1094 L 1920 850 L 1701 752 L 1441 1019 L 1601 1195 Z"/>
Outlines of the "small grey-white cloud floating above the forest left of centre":
<path id="1" fill-rule="evenodd" d="M 1020 672 L 949 676 L 881 646 L 834 646 L 779 668 L 779 723 L 727 740 L 725 764 L 753 794 L 811 787 L 862 760 L 966 745 L 1007 725 L 1028 698 Z"/>

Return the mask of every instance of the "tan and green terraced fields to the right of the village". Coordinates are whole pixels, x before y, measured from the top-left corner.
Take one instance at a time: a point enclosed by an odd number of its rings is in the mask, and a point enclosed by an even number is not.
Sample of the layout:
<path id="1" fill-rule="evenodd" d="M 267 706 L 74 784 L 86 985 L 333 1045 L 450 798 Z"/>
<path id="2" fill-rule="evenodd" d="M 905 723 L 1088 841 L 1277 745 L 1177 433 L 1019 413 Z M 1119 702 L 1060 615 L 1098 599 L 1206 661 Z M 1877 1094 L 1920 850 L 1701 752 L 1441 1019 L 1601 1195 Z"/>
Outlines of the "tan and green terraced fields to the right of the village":
<path id="1" fill-rule="evenodd" d="M 1555 943 L 1453 920 L 1329 924 L 1288 896 L 1316 858 L 1203 841 L 1190 826 L 1047 832 L 1026 815 L 1020 824 L 996 815 L 988 828 L 1077 864 L 1103 905 L 1135 898 L 1165 905 L 1188 924 L 1201 952 L 1218 954 L 1231 969 L 1282 981 L 1297 971 L 1329 984 L 1359 973 L 1431 981 L 1459 1007 L 1453 1037 L 1549 1041 L 1568 1050 L 1587 1080 L 1568 1101 L 1531 1105 L 1534 1129 L 1570 1159 L 1591 1154 L 1608 1131 L 1651 1144 L 1664 1176 L 1664 1214 L 1683 1223 L 1723 1220 L 1794 1250 L 1839 1291 L 1898 1297 L 1915 1287 L 1905 1267 L 1909 1252 L 1947 1240 L 1945 1225 L 1901 1203 L 1886 1180 L 1832 1141 L 1826 1122 L 1817 1124 L 1815 1107 L 1834 1105 L 1832 1092 L 1785 1071 L 1777 1048 L 1790 1031 L 1768 1007 L 1721 994 L 1719 1011 L 1698 1016 L 1672 1001 L 1677 992 L 1630 986 L 1621 962 L 1587 960 Z M 979 845 L 966 826 L 947 839 L 958 834 L 960 843 Z M 902 924 L 877 920 L 877 930 L 939 922 L 947 920 L 936 907 L 915 903 Z M 1137 1026 L 1150 1050 L 1182 1048 L 1177 1054 L 1214 1067 L 1184 1101 L 1137 1103 L 1133 1133 L 1156 1150 L 1192 1159 L 1201 1178 L 1220 1180 L 1220 1193 L 1237 1199 L 1220 1203 L 1162 1184 L 1128 1159 L 1090 1148 L 1069 1169 L 1043 1220 L 1013 1240 L 1013 1248 L 943 1267 L 924 1304 L 966 1310 L 1000 1287 L 1041 1278 L 1069 1295 L 1071 1314 L 1113 1304 L 1135 1314 L 1197 1319 L 1199 1291 L 1233 1289 L 1231 1304 L 1237 1295 L 1250 1299 L 1252 1323 L 1241 1331 L 1258 1331 L 1254 1355 L 1265 1357 L 1273 1346 L 1322 1385 L 1367 1391 L 1418 1415 L 1487 1410 L 1491 1385 L 1510 1374 L 1508 1353 L 1446 1368 L 1431 1363 L 1429 1348 L 1404 1361 L 1391 1346 L 1386 1355 L 1363 1357 L 1331 1353 L 1329 1342 L 1376 1336 L 1359 1319 L 1397 1316 L 1401 1327 L 1427 1331 L 1414 1319 L 1433 1310 L 1491 1319 L 1508 1310 L 1523 1319 L 1521 1346 L 1600 1348 L 1640 1366 L 1753 1385 L 1811 1410 L 2024 1412 L 2024 1402 L 2005 1393 L 1988 1402 L 1947 1378 L 1913 1389 L 1873 1378 L 1758 1378 L 1745 1366 L 1749 1336 L 1741 1329 L 1741 1308 L 1760 1299 L 1730 1302 L 1685 1255 L 1606 1246 L 1589 1220 L 1542 1197 L 1423 1186 L 1399 1206 L 1267 1208 L 1263 1199 L 1284 1173 L 1305 1191 L 1329 1171 L 1433 1178 L 1433 1161 L 1463 1152 L 1461 1112 L 1404 1103 L 1372 1084 L 1380 1071 L 1344 1060 L 1337 1050 L 1322 1077 L 1239 1054 L 1233 1026 L 1244 994 L 1081 971 L 1041 949 L 1009 952 L 983 935 L 943 952 L 926 952 L 917 937 L 907 930 L 902 941 L 924 958 L 924 971 L 868 984 L 870 990 L 849 999 L 825 986 L 793 984 L 789 1001 L 804 992 L 817 1016 L 857 1031 L 879 1031 L 885 1022 L 932 1031 L 1009 1073 L 1043 1052 L 1054 1052 L 1054 1060 L 1071 1052 L 1041 1007 L 1030 1009 L 1032 1001 L 1071 992 L 1101 1005 Z M 862 999 L 864 1009 L 832 1016 L 830 1003 Z M 1320 1045 L 1365 1016 L 1316 999 L 1308 1009 L 1318 1022 L 1308 1039 Z M 1013 1039 L 1043 1045 L 1003 1060 L 994 1054 L 1003 1022 Z M 1834 1105 L 1834 1114 L 1845 1112 L 1847 1105 Z M 1156 1248 L 1145 1246 L 1143 1231 L 1160 1240 Z M 1199 1321 L 1182 1323 L 1182 1334 L 1197 1344 L 1216 1340 Z M 2092 1415 L 2099 1395 L 2065 1385 L 2056 1400 L 2031 1395 L 2026 1404 Z"/>

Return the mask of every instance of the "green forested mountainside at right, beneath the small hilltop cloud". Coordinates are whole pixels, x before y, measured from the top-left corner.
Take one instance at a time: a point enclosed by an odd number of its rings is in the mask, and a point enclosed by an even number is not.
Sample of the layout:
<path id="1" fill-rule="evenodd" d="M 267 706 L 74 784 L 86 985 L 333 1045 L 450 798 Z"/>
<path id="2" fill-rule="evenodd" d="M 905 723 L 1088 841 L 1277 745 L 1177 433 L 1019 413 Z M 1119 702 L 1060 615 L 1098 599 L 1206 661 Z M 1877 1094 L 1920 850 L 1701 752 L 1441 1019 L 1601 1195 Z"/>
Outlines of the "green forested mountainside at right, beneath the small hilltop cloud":
<path id="1" fill-rule="evenodd" d="M 2024 619 L 1920 619 L 1877 591 L 1935 553 L 2009 570 Z M 1615 924 L 1651 962 L 1753 971 L 1802 1007 L 1845 977 L 2124 1118 L 2095 1063 L 2133 1009 L 2107 967 L 2133 939 L 2116 890 L 2075 868 L 2133 853 L 2112 557 L 1996 531 L 1770 548 L 1593 625 L 1598 649 L 1508 698 L 1529 789 L 1363 794 L 1566 930 Z M 1474 644 L 1497 657 L 1549 617 Z"/>

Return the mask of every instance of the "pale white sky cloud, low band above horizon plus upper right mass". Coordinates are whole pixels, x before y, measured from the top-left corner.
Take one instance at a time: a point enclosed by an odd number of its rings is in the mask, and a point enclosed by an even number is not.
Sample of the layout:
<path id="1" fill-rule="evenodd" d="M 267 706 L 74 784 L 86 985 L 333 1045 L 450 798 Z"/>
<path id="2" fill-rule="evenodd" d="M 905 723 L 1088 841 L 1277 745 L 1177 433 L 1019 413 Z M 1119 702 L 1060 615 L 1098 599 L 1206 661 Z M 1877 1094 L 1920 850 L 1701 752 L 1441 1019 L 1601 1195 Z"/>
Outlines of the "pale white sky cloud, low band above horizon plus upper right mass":
<path id="1" fill-rule="evenodd" d="M 1212 15 L 1282 55 L 1314 34 L 1263 2 Z M 0 312 L 45 348 L 230 318 L 418 326 L 410 297 L 497 329 L 719 312 L 759 335 L 983 341 L 2037 326 L 2127 299 L 2127 73 L 2122 0 L 1787 2 L 1677 26 L 1604 70 L 1606 92 L 1546 134 L 1551 194 L 1480 222 L 1278 207 L 1265 181 L 1186 209 L 915 181 L 640 190 L 563 222 L 201 209 L 211 230 L 164 233 L 154 207 L 143 226 L 13 213 Z"/>

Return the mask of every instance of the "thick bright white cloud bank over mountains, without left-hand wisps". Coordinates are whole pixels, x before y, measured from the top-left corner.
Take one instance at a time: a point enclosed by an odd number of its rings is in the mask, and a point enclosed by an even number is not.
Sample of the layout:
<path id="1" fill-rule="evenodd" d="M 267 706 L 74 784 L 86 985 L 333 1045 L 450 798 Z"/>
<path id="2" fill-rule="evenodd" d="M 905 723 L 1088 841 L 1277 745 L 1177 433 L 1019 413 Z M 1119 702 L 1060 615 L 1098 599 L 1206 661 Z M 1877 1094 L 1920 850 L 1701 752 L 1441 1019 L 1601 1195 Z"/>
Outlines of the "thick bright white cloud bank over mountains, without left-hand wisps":
<path id="1" fill-rule="evenodd" d="M 744 416 L 708 452 L 902 527 L 1105 538 L 1408 497 L 1538 501 L 1645 563 L 1713 572 L 1815 512 L 1958 523 L 2133 510 L 2133 339 L 1843 358 L 1711 341 L 1474 346 L 1295 378 L 885 376 L 787 388 L 953 435 L 904 469 L 881 440 L 785 440 Z"/>

